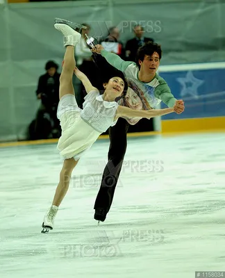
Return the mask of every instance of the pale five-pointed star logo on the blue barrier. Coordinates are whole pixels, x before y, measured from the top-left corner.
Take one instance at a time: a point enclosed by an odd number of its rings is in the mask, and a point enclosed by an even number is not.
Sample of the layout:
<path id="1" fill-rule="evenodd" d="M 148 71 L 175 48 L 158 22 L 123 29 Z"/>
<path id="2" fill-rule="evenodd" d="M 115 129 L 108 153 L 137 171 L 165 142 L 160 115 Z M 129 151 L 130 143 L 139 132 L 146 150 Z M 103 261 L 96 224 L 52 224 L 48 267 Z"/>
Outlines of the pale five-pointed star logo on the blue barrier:
<path id="1" fill-rule="evenodd" d="M 199 98 L 197 89 L 204 83 L 203 80 L 195 78 L 192 72 L 188 72 L 185 77 L 178 77 L 176 80 L 182 85 L 181 97 L 192 95 L 194 99 Z"/>

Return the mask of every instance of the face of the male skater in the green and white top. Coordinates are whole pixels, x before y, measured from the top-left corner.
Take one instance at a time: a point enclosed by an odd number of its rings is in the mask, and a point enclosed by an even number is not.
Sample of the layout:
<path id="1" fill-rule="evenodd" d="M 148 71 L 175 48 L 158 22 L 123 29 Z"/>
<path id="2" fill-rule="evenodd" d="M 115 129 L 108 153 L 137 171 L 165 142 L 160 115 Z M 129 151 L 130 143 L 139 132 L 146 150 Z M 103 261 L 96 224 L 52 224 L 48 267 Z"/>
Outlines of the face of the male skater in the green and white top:
<path id="1" fill-rule="evenodd" d="M 140 70 L 145 74 L 156 74 L 160 59 L 157 52 L 154 52 L 152 56 L 145 55 L 144 60 L 139 60 Z"/>

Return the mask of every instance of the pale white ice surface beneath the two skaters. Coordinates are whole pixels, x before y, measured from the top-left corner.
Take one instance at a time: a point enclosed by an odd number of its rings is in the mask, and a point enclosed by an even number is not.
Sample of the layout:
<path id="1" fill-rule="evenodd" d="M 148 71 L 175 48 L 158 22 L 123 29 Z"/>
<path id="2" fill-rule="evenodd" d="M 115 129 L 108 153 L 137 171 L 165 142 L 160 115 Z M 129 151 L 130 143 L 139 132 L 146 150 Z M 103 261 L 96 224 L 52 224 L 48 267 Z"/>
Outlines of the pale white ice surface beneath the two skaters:
<path id="1" fill-rule="evenodd" d="M 78 163 L 49 234 L 56 144 L 0 148 L 1 278 L 194 278 L 225 271 L 225 133 L 128 138 L 113 206 L 94 200 L 108 140 Z"/>

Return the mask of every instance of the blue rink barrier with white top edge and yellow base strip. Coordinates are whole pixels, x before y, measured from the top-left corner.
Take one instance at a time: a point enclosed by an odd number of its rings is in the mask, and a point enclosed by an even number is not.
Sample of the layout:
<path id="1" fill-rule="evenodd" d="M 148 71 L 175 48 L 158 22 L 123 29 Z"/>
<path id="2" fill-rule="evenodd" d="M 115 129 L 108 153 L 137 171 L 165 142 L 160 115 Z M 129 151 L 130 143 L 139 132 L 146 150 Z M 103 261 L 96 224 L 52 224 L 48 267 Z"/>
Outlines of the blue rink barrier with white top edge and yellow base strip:
<path id="1" fill-rule="evenodd" d="M 162 65 L 158 73 L 174 97 L 185 101 L 185 111 L 161 117 L 158 130 L 176 133 L 225 129 L 225 62 Z M 161 108 L 165 107 L 161 102 Z"/>

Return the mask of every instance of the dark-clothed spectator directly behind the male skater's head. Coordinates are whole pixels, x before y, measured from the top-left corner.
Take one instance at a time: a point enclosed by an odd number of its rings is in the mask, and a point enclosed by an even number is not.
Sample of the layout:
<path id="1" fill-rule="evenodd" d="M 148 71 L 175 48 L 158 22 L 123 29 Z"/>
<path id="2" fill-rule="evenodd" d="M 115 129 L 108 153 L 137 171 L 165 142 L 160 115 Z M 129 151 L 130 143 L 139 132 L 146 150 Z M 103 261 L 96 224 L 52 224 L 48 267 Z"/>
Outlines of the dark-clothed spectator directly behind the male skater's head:
<path id="1" fill-rule="evenodd" d="M 144 28 L 140 25 L 136 25 L 133 28 L 133 32 L 135 33 L 135 38 L 128 40 L 126 42 L 126 60 L 135 62 L 135 57 L 138 52 L 138 48 L 142 47 L 146 42 L 153 42 L 152 38 L 145 38 Z"/>

